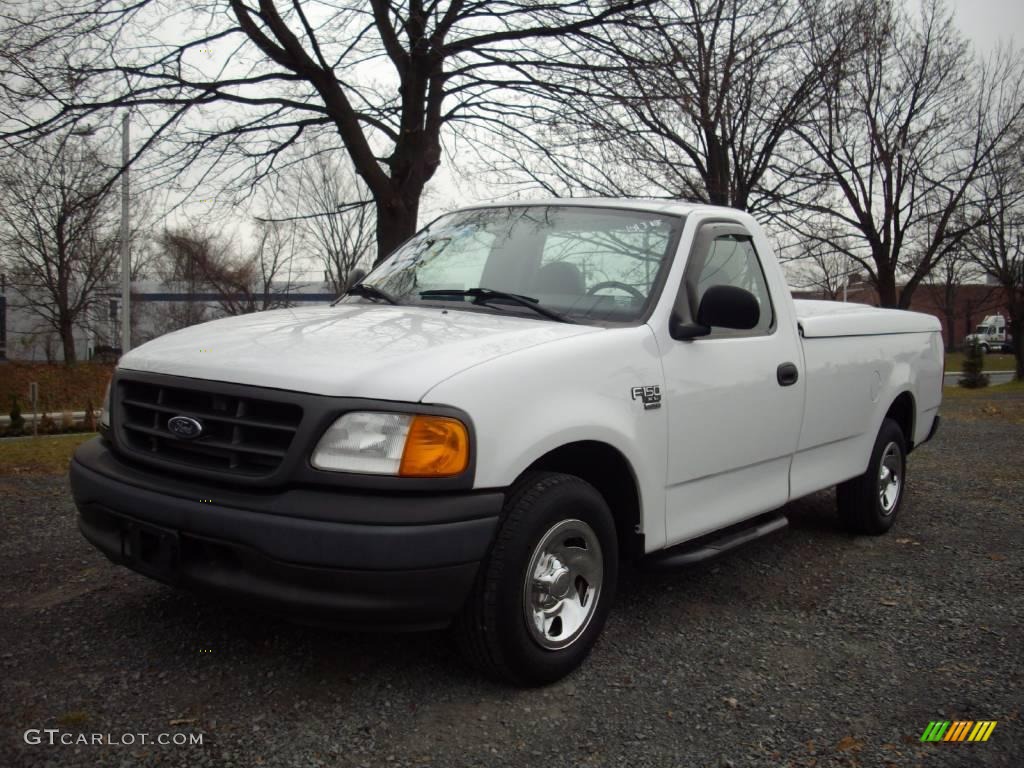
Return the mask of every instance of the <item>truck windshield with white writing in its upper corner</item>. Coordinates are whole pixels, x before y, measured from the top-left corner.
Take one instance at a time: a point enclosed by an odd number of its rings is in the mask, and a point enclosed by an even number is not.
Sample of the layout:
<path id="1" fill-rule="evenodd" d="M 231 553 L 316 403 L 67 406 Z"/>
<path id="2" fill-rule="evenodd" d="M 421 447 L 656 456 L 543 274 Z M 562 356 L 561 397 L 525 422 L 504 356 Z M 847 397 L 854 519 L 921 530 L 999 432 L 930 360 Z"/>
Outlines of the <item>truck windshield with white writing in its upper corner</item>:
<path id="1" fill-rule="evenodd" d="M 675 216 L 582 206 L 458 211 L 416 234 L 362 282 L 402 304 L 531 314 L 521 303 L 492 297 L 478 307 L 479 296 L 456 293 L 485 288 L 536 299 L 578 322 L 635 322 L 652 300 L 681 226 Z M 424 295 L 444 291 L 453 294 Z"/>

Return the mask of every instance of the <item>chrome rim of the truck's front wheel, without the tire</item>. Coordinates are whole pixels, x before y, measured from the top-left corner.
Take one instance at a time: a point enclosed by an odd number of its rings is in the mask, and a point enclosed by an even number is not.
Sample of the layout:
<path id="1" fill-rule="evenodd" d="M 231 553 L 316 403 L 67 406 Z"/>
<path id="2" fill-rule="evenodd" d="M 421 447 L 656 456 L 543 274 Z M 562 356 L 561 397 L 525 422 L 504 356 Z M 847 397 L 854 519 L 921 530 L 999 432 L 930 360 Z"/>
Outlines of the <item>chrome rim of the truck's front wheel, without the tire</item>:
<path id="1" fill-rule="evenodd" d="M 542 648 L 567 648 L 583 635 L 603 574 L 601 545 L 583 520 L 562 520 L 541 538 L 526 567 L 522 602 L 526 627 Z"/>

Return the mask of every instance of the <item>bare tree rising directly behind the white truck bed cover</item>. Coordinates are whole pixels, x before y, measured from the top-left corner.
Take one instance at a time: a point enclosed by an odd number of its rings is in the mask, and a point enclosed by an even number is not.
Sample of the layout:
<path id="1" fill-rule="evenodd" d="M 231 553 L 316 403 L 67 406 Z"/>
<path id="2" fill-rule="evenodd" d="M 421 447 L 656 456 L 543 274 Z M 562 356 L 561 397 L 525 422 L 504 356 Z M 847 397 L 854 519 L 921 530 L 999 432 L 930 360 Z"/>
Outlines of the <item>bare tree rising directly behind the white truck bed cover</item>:
<path id="1" fill-rule="evenodd" d="M 975 65 L 942 0 L 925 0 L 920 17 L 872 4 L 856 55 L 798 129 L 790 173 L 805 194 L 790 220 L 860 264 L 883 306 L 905 308 L 982 223 L 966 215 L 971 191 L 994 153 L 1019 145 L 1024 101 L 1009 51 Z M 997 124 L 996 100 L 1013 104 Z"/>

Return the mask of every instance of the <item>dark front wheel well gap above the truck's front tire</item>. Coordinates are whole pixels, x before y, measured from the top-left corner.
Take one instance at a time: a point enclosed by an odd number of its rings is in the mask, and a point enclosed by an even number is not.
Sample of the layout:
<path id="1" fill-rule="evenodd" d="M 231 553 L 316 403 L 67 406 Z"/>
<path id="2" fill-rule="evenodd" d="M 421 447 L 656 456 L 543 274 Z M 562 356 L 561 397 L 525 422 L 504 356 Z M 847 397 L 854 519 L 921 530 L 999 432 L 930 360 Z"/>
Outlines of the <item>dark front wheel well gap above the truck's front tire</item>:
<path id="1" fill-rule="evenodd" d="M 622 452 L 600 440 L 577 440 L 549 451 L 524 471 L 537 470 L 575 475 L 597 488 L 615 521 L 620 556 L 632 560 L 644 554 L 640 485 Z"/>

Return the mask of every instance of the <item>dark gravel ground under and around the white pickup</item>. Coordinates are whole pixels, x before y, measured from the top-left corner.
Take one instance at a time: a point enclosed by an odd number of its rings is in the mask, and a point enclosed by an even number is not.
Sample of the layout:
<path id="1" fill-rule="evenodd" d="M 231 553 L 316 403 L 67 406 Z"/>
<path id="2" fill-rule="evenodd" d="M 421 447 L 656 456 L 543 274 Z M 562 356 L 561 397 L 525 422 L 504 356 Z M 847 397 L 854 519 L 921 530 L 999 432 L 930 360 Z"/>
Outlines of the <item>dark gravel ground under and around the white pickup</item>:
<path id="1" fill-rule="evenodd" d="M 628 571 L 590 660 L 541 690 L 481 681 L 442 633 L 178 594 L 80 538 L 62 477 L 0 477 L 0 766 L 1024 765 L 1024 424 L 1006 408 L 950 403 L 887 537 L 842 532 L 820 494 L 715 563 Z M 920 742 L 957 719 L 998 725 Z"/>

